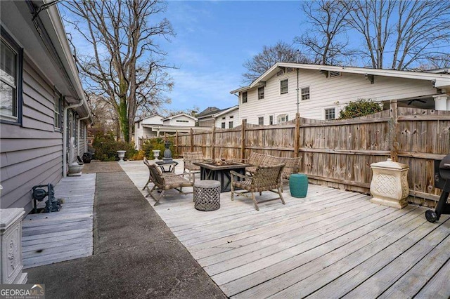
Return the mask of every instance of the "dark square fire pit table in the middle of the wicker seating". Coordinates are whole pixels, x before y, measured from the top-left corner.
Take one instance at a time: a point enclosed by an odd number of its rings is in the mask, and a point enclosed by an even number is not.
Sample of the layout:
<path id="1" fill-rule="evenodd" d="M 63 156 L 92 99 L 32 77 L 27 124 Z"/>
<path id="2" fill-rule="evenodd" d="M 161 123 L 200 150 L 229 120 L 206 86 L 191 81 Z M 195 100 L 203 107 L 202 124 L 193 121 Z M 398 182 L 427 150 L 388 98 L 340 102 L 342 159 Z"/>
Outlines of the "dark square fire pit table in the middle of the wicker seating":
<path id="1" fill-rule="evenodd" d="M 193 164 L 200 166 L 200 180 L 218 180 L 220 182 L 220 192 L 231 191 L 230 171 L 245 175 L 245 167 L 250 166 L 250 164 L 231 161 L 221 161 L 221 165 L 217 165 L 216 162 L 193 162 Z M 235 176 L 235 178 L 237 177 Z"/>

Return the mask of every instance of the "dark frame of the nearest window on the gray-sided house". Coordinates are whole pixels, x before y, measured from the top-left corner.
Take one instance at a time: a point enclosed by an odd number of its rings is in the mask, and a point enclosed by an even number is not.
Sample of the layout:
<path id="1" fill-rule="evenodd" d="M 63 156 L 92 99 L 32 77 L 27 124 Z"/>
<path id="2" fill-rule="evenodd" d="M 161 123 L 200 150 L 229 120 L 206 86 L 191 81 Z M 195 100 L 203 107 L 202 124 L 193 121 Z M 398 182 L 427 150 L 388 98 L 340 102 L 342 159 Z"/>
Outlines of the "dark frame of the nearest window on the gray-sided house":
<path id="1" fill-rule="evenodd" d="M 16 84 L 15 84 L 15 93 L 16 93 L 16 109 L 17 116 L 8 117 L 7 115 L 1 116 L 0 114 L 0 123 L 1 124 L 13 124 L 16 126 L 22 126 L 23 120 L 23 48 L 16 42 L 13 37 L 6 32 L 6 29 L 0 25 L 1 32 L 1 40 L 4 41 L 5 44 L 17 54 L 17 72 L 15 74 Z"/>

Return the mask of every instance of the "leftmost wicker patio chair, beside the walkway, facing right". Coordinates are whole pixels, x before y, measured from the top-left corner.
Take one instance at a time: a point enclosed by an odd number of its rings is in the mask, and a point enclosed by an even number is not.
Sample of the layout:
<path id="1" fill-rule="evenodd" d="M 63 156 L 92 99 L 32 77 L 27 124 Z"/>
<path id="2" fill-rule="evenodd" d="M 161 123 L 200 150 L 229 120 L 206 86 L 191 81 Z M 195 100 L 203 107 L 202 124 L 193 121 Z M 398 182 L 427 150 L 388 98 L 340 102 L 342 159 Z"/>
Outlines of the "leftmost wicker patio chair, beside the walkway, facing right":
<path id="1" fill-rule="evenodd" d="M 181 194 L 192 193 L 183 192 L 182 189 L 183 187 L 193 187 L 195 182 L 195 175 L 192 175 L 193 180 L 191 182 L 190 180 L 186 180 L 185 178 L 183 178 L 184 173 L 181 173 L 179 175 L 176 175 L 174 173 L 167 173 L 163 175 L 158 166 L 156 166 L 155 164 L 150 164 L 150 166 L 148 166 L 148 169 L 150 170 L 150 176 L 153 180 L 153 184 L 155 184 L 148 195 L 155 199 L 155 206 L 160 203 L 160 199 L 162 199 L 166 190 L 174 189 Z M 152 192 L 155 190 L 158 190 L 158 192 L 160 192 L 160 195 L 158 197 L 154 197 L 152 194 Z"/>

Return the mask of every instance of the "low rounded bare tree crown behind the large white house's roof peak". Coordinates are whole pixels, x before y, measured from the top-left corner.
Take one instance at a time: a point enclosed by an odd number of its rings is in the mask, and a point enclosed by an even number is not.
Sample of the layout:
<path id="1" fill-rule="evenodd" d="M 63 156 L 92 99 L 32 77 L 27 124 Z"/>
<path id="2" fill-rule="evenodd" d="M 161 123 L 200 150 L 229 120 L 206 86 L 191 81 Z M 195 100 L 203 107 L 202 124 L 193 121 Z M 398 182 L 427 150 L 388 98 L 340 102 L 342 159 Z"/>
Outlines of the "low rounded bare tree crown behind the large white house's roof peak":
<path id="1" fill-rule="evenodd" d="M 261 53 L 244 62 L 243 67 L 247 69 L 247 72 L 242 75 L 243 82 L 255 81 L 276 62 L 309 63 L 311 61 L 293 46 L 278 41 L 275 46 L 264 46 Z"/>

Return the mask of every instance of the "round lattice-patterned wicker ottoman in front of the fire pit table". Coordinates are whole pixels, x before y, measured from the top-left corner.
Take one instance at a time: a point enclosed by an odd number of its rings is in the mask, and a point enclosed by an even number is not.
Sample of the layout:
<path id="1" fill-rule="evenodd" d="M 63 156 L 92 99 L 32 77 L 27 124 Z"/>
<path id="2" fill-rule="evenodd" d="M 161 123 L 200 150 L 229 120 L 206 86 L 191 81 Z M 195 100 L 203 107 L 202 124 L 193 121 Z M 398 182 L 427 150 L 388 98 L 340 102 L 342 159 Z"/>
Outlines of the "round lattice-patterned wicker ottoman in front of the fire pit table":
<path id="1" fill-rule="evenodd" d="M 220 208 L 220 182 L 199 180 L 194 184 L 195 208 L 200 211 L 214 211 Z"/>

